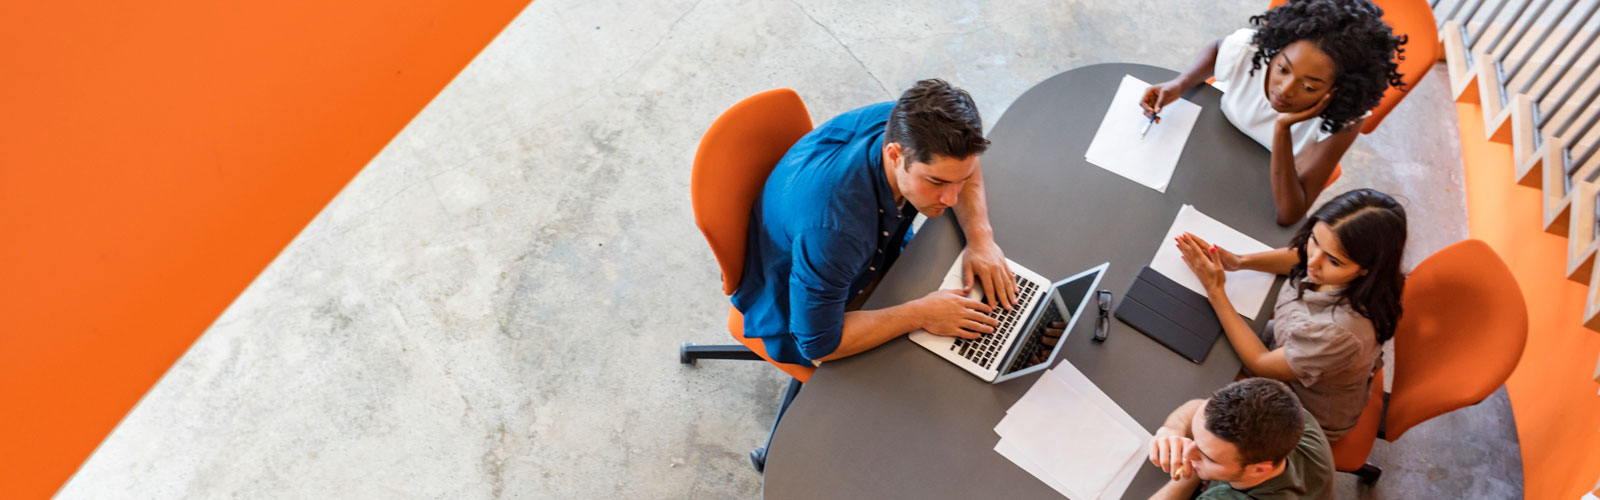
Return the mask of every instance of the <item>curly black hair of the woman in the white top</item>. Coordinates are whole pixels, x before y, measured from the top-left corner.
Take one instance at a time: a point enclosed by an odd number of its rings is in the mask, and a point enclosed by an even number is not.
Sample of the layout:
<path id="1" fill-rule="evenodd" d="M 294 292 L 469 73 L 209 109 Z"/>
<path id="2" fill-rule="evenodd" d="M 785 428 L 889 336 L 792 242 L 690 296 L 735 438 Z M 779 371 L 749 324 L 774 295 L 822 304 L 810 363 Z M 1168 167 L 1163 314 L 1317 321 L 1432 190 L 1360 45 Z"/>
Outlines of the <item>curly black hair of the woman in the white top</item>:
<path id="1" fill-rule="evenodd" d="M 1250 24 L 1256 26 L 1251 75 L 1299 40 L 1333 58 L 1336 90 L 1322 112 L 1323 131 L 1339 131 L 1378 107 L 1389 87 L 1406 90 L 1397 71 L 1406 37 L 1397 37 L 1384 22 L 1384 11 L 1368 0 L 1290 0 L 1251 16 Z"/>

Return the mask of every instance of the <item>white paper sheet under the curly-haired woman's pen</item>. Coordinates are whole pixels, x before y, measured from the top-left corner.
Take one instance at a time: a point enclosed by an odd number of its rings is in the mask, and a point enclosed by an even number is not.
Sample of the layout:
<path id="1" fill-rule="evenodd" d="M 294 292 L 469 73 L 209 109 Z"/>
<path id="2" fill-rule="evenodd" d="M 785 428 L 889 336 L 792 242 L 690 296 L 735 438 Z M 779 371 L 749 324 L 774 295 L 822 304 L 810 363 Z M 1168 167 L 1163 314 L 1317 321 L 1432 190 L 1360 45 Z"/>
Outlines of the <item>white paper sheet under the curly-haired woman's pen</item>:
<path id="1" fill-rule="evenodd" d="M 1117 95 L 1106 109 L 1101 128 L 1094 131 L 1088 152 L 1083 154 L 1090 163 L 1110 170 L 1120 176 L 1133 179 L 1150 189 L 1166 192 L 1166 184 L 1178 168 L 1178 157 L 1189 143 L 1189 131 L 1200 117 L 1200 106 L 1179 98 L 1162 107 L 1162 122 L 1150 125 L 1150 131 L 1139 136 L 1150 120 L 1144 117 L 1139 101 L 1144 90 L 1150 88 L 1133 75 L 1123 75 Z"/>

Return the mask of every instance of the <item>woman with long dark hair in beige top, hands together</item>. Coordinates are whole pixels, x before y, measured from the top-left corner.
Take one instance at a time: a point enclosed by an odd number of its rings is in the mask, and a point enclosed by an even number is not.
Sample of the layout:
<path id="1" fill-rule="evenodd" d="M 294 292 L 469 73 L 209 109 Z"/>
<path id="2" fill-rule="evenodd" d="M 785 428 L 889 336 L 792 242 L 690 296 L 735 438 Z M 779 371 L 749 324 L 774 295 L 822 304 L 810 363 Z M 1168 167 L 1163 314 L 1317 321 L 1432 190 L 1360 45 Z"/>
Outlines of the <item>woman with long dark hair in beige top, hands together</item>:
<path id="1" fill-rule="evenodd" d="M 1362 417 L 1382 367 L 1381 345 L 1395 335 L 1405 224 L 1398 202 L 1357 189 L 1312 213 L 1288 248 L 1234 255 L 1192 234 L 1178 237 L 1245 370 L 1286 381 L 1330 441 Z M 1238 269 L 1288 274 L 1259 337 L 1222 290 L 1224 272 Z"/>

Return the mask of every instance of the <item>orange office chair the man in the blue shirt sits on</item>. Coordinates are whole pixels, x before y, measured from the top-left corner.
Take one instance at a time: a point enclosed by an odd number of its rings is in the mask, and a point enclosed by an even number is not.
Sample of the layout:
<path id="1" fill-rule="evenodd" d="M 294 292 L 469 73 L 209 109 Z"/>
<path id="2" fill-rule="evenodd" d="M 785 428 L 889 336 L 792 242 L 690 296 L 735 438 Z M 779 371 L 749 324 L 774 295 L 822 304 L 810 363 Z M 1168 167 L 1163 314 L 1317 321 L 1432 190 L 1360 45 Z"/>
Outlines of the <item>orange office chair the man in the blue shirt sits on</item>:
<path id="1" fill-rule="evenodd" d="M 722 266 L 722 293 L 733 295 L 744 274 L 746 236 L 750 231 L 750 208 L 773 173 L 778 160 L 789 147 L 811 131 L 811 114 L 794 90 L 768 90 L 728 107 L 701 138 L 690 173 L 690 200 L 694 205 L 694 223 L 706 234 L 710 252 Z M 758 338 L 744 338 L 744 316 L 728 308 L 728 333 L 741 345 L 698 346 L 683 343 L 678 362 L 693 365 L 698 359 L 766 359 L 794 380 L 784 391 L 773 418 L 773 431 L 784 418 L 789 402 L 800 393 L 800 385 L 811 378 L 813 367 L 776 362 L 766 356 L 766 346 Z M 773 434 L 766 434 L 766 446 Z M 766 468 L 766 446 L 750 452 L 755 471 Z"/>

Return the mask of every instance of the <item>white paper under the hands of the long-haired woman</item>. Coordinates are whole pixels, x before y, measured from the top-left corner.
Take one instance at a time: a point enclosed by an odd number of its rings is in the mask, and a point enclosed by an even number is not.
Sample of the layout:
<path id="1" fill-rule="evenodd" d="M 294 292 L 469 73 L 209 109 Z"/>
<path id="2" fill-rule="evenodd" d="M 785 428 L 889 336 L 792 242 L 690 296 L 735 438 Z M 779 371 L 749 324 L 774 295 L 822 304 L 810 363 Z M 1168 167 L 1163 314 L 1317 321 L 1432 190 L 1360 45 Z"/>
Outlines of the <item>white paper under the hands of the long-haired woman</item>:
<path id="1" fill-rule="evenodd" d="M 1179 234 L 1190 232 L 1206 240 L 1208 244 L 1218 245 L 1235 255 L 1267 252 L 1267 247 L 1256 239 L 1238 232 L 1227 224 L 1219 223 L 1214 218 L 1200 213 L 1195 207 L 1184 205 L 1178 210 L 1178 218 L 1173 220 L 1173 228 L 1166 229 L 1166 237 L 1160 242 L 1160 250 L 1155 250 L 1155 260 L 1150 261 L 1150 269 L 1162 272 L 1171 280 L 1184 285 L 1184 288 L 1194 290 L 1195 293 L 1205 295 L 1205 285 L 1200 285 L 1200 279 L 1195 272 L 1189 269 L 1184 263 L 1184 253 L 1178 250 L 1178 242 L 1174 240 Z M 1272 292 L 1272 282 L 1277 277 L 1261 271 L 1229 271 L 1227 280 L 1222 284 L 1222 290 L 1227 292 L 1227 300 L 1234 303 L 1234 311 L 1243 314 L 1245 317 L 1256 319 L 1261 312 L 1261 304 L 1267 301 L 1267 292 Z"/>

